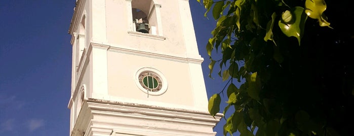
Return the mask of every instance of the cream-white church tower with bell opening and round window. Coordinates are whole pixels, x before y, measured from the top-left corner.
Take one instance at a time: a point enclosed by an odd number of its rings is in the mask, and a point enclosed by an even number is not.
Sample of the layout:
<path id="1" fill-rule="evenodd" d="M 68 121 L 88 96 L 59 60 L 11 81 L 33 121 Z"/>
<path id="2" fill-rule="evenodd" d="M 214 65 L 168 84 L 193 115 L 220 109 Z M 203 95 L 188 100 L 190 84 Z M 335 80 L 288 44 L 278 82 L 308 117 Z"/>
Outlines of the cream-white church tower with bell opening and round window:
<path id="1" fill-rule="evenodd" d="M 76 0 L 70 135 L 215 135 L 188 0 Z"/>

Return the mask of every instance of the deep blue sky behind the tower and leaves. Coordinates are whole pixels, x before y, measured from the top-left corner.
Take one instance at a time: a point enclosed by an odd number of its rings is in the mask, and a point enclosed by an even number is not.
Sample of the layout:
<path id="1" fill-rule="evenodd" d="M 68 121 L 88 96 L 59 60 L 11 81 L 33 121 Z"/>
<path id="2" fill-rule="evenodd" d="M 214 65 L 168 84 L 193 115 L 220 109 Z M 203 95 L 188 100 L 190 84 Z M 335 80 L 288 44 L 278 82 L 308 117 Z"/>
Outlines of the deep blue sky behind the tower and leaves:
<path id="1" fill-rule="evenodd" d="M 205 45 L 215 21 L 204 6 L 189 0 L 209 97 L 224 87 Z M 75 0 L 1 0 L 0 135 L 69 135 L 71 44 L 68 28 Z M 217 66 L 216 66 L 217 68 Z M 226 101 L 226 100 L 222 100 Z M 223 110 L 223 108 L 221 108 Z M 222 135 L 222 120 L 215 127 Z"/>

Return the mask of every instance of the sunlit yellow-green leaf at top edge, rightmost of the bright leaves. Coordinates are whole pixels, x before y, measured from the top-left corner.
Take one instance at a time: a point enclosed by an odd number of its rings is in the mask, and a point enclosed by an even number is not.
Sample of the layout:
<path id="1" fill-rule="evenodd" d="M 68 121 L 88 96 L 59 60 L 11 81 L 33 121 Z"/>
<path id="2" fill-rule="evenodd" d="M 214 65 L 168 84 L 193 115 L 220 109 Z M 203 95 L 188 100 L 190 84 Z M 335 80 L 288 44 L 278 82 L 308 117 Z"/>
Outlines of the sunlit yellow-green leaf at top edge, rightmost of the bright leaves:
<path id="1" fill-rule="evenodd" d="M 327 17 L 323 13 L 327 8 L 326 2 L 324 0 L 306 0 L 305 8 L 307 16 L 319 20 L 320 26 L 330 27 L 330 23 L 327 22 Z"/>

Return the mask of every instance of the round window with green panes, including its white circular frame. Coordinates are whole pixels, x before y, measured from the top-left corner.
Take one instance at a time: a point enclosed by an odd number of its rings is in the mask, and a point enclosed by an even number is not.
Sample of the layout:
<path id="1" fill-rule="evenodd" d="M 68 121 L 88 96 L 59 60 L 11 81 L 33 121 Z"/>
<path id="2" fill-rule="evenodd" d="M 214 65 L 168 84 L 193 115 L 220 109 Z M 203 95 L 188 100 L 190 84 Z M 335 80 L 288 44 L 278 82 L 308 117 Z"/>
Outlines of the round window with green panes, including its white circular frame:
<path id="1" fill-rule="evenodd" d="M 162 73 L 150 67 L 144 67 L 136 73 L 138 88 L 149 95 L 161 95 L 167 90 L 167 81 Z"/>

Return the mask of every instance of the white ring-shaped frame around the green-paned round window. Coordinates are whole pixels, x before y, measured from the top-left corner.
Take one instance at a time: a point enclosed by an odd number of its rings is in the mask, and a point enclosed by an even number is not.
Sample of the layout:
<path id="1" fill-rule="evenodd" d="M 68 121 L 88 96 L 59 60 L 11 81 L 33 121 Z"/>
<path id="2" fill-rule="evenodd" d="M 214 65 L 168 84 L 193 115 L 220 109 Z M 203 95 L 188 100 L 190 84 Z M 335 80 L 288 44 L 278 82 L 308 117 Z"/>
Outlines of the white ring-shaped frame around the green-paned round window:
<path id="1" fill-rule="evenodd" d="M 151 90 L 148 90 L 148 89 L 144 88 L 143 87 L 144 85 L 141 84 L 140 80 L 139 80 L 140 74 L 143 74 L 143 73 L 152 73 L 156 77 L 158 77 L 161 80 L 161 82 L 162 82 L 161 83 L 161 89 L 158 90 L 158 91 L 151 91 Z M 136 72 L 136 74 L 135 74 L 135 84 L 144 93 L 146 93 L 148 95 L 154 95 L 154 96 L 158 96 L 158 95 L 164 94 L 167 91 L 167 88 L 168 88 L 168 83 L 167 83 L 167 80 L 166 80 L 165 76 L 160 71 L 158 71 L 156 69 L 153 69 L 151 67 L 143 67 L 143 68 L 139 69 Z M 159 88 L 159 87 L 156 87 L 156 88 Z"/>

